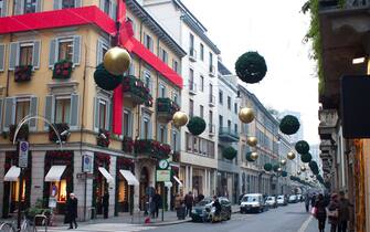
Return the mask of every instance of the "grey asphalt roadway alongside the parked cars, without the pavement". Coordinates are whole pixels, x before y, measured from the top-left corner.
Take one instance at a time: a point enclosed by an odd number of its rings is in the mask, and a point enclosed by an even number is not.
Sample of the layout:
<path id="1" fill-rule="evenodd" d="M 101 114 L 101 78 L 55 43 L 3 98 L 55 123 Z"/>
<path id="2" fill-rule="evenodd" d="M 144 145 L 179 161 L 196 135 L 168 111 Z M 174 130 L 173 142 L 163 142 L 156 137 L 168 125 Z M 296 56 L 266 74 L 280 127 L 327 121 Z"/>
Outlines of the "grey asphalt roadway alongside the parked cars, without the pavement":
<path id="1" fill-rule="evenodd" d="M 222 223 L 193 223 L 160 226 L 147 232 L 305 232 L 315 229 L 316 220 L 305 212 L 303 203 L 278 207 L 263 213 L 240 214 Z M 307 230 L 308 231 L 308 230 Z"/>

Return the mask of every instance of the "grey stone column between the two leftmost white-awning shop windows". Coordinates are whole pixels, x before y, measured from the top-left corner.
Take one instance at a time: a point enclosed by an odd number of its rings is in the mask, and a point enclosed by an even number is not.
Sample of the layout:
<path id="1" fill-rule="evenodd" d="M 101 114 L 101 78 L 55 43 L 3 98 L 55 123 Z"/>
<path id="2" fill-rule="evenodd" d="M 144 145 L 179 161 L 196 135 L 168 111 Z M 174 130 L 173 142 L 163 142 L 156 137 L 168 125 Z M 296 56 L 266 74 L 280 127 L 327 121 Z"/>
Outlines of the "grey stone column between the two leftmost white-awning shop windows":
<path id="1" fill-rule="evenodd" d="M 32 151 L 31 205 L 43 198 L 45 151 Z"/>

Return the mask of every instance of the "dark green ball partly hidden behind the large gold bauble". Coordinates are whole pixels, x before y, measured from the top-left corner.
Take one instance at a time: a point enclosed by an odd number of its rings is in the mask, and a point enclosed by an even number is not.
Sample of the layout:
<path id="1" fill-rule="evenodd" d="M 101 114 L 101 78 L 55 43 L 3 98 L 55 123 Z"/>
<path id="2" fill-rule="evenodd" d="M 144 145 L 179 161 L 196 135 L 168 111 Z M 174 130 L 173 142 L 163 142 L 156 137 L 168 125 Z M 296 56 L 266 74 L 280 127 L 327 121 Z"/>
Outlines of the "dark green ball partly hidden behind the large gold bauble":
<path id="1" fill-rule="evenodd" d="M 101 88 L 105 91 L 113 91 L 121 83 L 123 76 L 110 74 L 102 63 L 97 65 L 94 72 L 94 81 Z"/>

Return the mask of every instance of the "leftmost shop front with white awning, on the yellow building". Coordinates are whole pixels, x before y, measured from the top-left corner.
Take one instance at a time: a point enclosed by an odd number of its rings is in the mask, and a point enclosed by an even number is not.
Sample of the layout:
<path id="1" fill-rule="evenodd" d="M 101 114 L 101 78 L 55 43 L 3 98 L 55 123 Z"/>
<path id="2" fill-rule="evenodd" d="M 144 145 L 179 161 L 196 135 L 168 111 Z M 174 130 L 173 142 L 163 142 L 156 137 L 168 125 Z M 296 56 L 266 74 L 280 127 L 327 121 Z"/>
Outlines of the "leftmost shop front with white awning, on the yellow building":
<path id="1" fill-rule="evenodd" d="M 21 169 L 18 167 L 19 156 L 17 151 L 6 152 L 4 162 L 4 182 L 3 182 L 3 202 L 2 217 L 9 218 L 17 213 L 18 205 L 21 202 L 21 209 L 30 207 L 31 197 L 31 173 L 32 173 L 32 156 L 29 154 L 28 168 L 23 169 L 23 180 L 20 183 L 19 177 Z M 22 188 L 22 196 L 19 191 Z"/>

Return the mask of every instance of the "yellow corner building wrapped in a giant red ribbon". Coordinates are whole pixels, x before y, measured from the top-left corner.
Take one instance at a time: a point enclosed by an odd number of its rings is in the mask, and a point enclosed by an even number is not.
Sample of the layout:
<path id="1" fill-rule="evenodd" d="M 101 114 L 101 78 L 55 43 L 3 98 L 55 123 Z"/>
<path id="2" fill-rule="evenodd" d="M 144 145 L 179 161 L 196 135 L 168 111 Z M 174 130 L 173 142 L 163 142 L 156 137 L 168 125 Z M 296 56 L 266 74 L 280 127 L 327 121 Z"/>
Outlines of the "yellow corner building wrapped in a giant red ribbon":
<path id="1" fill-rule="evenodd" d="M 166 194 L 170 207 L 182 184 L 181 136 L 170 118 L 181 106 L 186 52 L 135 0 L 1 1 L 0 12 L 0 217 L 11 217 L 20 202 L 42 199 L 47 207 L 51 197 L 62 214 L 70 192 L 78 198 L 81 220 L 102 217 L 105 193 L 109 217 L 144 210 L 149 189 Z M 124 84 L 108 92 L 95 84 L 94 72 L 117 41 L 117 19 L 133 62 Z M 71 66 L 59 73 L 61 61 Z M 12 138 L 27 115 L 40 117 L 17 136 L 30 144 L 20 183 L 10 171 L 18 167 Z M 62 149 L 46 122 L 63 135 Z M 167 149 L 154 154 L 142 144 Z M 156 182 L 158 159 L 170 162 L 166 187 Z"/>

